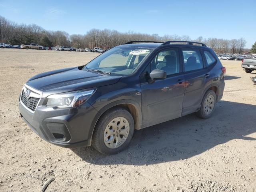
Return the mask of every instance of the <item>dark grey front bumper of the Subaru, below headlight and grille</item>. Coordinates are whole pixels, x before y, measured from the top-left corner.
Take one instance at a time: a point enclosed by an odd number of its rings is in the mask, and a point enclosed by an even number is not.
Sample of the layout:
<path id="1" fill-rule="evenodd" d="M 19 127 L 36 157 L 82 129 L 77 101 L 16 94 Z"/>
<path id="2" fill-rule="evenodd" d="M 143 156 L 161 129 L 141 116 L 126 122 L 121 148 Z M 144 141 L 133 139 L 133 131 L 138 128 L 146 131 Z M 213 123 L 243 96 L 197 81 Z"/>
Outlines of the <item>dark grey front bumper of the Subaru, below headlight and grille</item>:
<path id="1" fill-rule="evenodd" d="M 76 108 L 60 109 L 47 107 L 46 100 L 41 98 L 34 112 L 19 100 L 20 115 L 28 126 L 42 139 L 58 146 L 90 146 L 98 111 L 88 102 Z"/>

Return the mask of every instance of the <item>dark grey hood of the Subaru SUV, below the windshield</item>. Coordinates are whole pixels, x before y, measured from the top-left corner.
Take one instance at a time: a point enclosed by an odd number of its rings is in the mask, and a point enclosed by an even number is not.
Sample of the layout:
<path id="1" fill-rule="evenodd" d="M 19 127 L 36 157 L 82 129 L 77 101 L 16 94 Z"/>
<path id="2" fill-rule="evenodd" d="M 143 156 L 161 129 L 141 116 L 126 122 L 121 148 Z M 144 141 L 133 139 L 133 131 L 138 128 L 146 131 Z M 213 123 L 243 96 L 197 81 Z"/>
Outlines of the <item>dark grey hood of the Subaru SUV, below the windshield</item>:
<path id="1" fill-rule="evenodd" d="M 120 78 L 74 67 L 38 74 L 30 78 L 26 85 L 42 92 L 42 98 L 45 98 L 51 94 L 115 84 Z"/>

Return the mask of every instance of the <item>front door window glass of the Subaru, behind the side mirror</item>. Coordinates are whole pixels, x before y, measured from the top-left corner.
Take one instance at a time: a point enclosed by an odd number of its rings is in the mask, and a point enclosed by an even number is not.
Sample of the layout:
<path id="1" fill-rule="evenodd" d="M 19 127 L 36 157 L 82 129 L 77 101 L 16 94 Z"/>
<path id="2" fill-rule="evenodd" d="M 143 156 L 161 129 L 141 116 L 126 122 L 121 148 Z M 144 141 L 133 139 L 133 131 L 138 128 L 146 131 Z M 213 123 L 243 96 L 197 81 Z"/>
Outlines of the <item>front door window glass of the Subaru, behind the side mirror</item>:
<path id="1" fill-rule="evenodd" d="M 151 62 L 151 70 L 166 71 L 166 75 L 180 72 L 180 58 L 178 49 L 172 48 L 159 52 Z"/>

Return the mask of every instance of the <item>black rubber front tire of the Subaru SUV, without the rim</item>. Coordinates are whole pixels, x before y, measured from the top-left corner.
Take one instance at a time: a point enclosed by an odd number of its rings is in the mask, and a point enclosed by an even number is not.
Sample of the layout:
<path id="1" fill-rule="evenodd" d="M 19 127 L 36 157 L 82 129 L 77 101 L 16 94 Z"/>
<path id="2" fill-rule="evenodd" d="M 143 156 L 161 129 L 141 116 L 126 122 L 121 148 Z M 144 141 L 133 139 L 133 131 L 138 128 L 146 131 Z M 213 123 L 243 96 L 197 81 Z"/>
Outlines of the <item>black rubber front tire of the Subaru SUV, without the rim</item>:
<path id="1" fill-rule="evenodd" d="M 119 146 L 118 148 L 108 148 L 106 144 L 104 143 L 104 131 L 106 126 L 109 124 L 109 122 L 116 118 L 116 117 L 124 117 L 128 120 L 129 126 L 130 126 L 130 131 L 128 134 L 127 139 L 124 141 L 124 143 Z M 98 120 L 95 128 L 94 128 L 94 133 L 92 136 L 92 146 L 100 153 L 102 154 L 116 154 L 124 148 L 126 148 L 130 141 L 132 140 L 132 136 L 134 133 L 134 119 L 132 118 L 132 115 L 130 112 L 123 108 L 113 108 L 108 111 L 106 111 Z"/>

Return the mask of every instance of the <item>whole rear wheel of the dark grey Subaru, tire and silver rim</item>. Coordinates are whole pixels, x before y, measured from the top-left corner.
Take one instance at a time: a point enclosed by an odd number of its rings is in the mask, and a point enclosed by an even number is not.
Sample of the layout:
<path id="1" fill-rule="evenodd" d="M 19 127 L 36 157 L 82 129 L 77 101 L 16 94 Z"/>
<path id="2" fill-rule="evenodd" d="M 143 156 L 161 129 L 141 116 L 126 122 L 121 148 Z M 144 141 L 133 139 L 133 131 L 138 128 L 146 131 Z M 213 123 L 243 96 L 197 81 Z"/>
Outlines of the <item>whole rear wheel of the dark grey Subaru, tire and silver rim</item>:
<path id="1" fill-rule="evenodd" d="M 202 119 L 208 119 L 212 116 L 217 103 L 216 94 L 213 90 L 208 90 L 202 100 L 201 108 L 196 115 Z"/>

